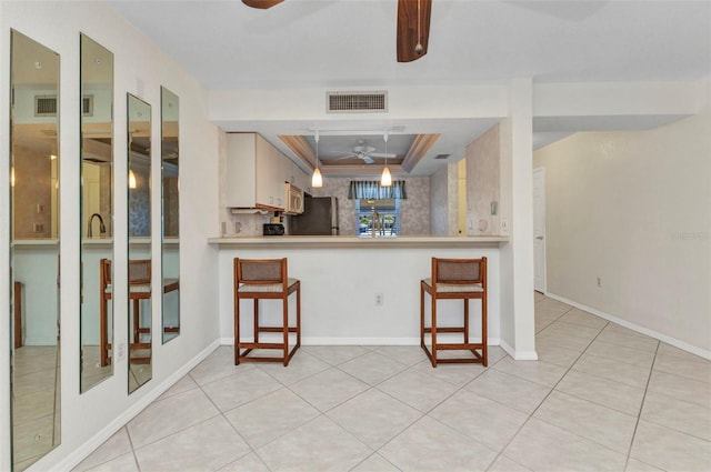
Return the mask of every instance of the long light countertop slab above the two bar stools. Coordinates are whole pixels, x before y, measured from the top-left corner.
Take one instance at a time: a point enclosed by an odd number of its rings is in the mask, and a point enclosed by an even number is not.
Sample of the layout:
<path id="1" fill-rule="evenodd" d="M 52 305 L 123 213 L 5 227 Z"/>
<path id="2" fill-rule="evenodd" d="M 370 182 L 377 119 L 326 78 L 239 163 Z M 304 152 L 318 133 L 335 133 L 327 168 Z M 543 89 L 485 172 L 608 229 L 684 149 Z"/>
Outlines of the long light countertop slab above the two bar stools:
<path id="1" fill-rule="evenodd" d="M 505 235 L 272 235 L 209 238 L 208 243 L 220 248 L 434 248 L 434 247 L 499 247 L 509 242 Z"/>

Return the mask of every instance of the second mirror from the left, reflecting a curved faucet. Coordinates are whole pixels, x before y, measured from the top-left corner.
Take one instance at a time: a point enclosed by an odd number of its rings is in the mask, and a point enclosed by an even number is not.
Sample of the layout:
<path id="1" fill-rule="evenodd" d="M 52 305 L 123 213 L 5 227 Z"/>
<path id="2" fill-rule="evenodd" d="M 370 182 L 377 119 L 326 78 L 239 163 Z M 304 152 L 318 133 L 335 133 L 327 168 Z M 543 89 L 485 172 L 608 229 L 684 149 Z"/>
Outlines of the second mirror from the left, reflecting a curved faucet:
<path id="1" fill-rule="evenodd" d="M 113 54 L 81 34 L 81 392 L 113 373 Z"/>

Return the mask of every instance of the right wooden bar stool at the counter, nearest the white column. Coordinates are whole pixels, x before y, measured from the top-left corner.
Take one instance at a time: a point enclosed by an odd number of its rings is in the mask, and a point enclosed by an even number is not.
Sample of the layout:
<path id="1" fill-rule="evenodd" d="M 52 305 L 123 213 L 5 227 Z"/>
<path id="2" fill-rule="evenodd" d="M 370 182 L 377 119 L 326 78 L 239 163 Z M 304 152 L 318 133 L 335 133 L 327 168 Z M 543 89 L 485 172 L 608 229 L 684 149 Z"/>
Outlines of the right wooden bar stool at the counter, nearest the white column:
<path id="1" fill-rule="evenodd" d="M 424 325 L 424 292 L 430 294 L 432 319 Z M 438 328 L 437 301 L 461 299 L 464 301 L 462 327 Z M 481 300 L 481 342 L 469 342 L 469 302 Z M 438 333 L 462 333 L 463 342 L 439 343 Z M 431 334 L 432 350 L 424 344 L 424 335 Z M 432 277 L 420 282 L 420 345 L 435 368 L 437 363 L 481 363 L 487 366 L 487 258 L 438 259 L 432 258 Z M 469 351 L 465 358 L 438 359 L 438 351 Z"/>

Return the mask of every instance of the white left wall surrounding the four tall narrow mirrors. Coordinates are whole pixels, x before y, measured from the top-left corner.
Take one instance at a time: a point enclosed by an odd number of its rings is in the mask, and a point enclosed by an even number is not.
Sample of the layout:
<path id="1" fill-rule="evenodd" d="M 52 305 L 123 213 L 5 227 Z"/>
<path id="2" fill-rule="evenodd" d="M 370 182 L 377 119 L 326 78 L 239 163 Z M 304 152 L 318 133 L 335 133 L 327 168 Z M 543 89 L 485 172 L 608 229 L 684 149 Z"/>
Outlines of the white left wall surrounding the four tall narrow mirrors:
<path id="1" fill-rule="evenodd" d="M 81 454 L 108 438 L 156 398 L 176 372 L 218 339 L 217 251 L 207 244 L 219 227 L 217 185 L 218 130 L 207 119 L 204 91 L 194 79 L 136 31 L 103 2 L 0 2 L 0 149 L 9 149 L 9 51 L 10 29 L 29 36 L 60 54 L 60 179 L 61 191 L 61 445 L 31 470 L 70 468 Z M 152 106 L 153 154 L 160 155 L 160 86 L 180 98 L 181 164 L 181 335 L 162 345 L 153 344 L 153 379 L 128 395 L 126 361 L 118 361 L 114 375 L 84 394 L 79 394 L 79 33 L 114 53 L 116 182 L 126 182 L 126 94 L 138 94 Z M 8 161 L 0 163 L 0 267 L 8 268 L 9 221 Z M 160 184 L 154 165 L 153 187 Z M 116 259 L 126 260 L 127 201 L 117 187 Z M 153 199 L 153 214 L 160 214 L 160 199 Z M 160 221 L 153 221 L 153 260 L 160 258 Z M 117 263 L 116 280 L 126 280 L 126 264 Z M 8 271 L 0 271 L 1 287 L 9 287 Z M 117 283 L 116 342 L 127 341 L 128 303 L 126 284 Z M 8 291 L 0 290 L 0 324 L 8 327 Z M 123 292 L 123 293 L 122 293 Z M 160 297 L 152 300 L 153 327 L 160 325 Z M 120 313 L 123 313 L 121 315 Z M 9 345 L 0 337 L 0 470 L 9 469 Z"/>

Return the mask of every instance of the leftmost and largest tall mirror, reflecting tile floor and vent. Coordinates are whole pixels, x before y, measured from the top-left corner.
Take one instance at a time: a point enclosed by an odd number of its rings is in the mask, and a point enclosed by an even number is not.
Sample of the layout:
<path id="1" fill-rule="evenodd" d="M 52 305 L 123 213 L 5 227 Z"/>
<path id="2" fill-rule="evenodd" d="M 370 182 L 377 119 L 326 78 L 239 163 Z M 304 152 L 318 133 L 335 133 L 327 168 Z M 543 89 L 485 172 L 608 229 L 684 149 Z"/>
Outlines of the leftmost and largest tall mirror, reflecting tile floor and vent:
<path id="1" fill-rule="evenodd" d="M 12 466 L 60 442 L 59 54 L 11 33 Z"/>

